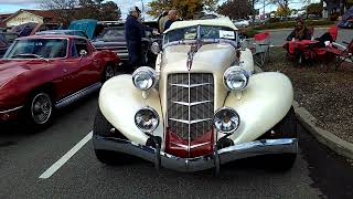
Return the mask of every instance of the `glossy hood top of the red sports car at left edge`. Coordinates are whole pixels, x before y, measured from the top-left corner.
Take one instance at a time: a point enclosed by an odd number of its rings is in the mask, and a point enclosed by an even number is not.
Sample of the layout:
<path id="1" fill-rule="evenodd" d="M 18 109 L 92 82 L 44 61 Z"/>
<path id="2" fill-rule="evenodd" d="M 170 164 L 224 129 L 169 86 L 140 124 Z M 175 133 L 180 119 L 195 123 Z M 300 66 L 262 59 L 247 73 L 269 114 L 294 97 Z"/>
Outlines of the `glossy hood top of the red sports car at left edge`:
<path id="1" fill-rule="evenodd" d="M 10 80 L 18 75 L 33 70 L 33 66 L 43 63 L 43 61 L 0 61 L 0 88 Z"/>

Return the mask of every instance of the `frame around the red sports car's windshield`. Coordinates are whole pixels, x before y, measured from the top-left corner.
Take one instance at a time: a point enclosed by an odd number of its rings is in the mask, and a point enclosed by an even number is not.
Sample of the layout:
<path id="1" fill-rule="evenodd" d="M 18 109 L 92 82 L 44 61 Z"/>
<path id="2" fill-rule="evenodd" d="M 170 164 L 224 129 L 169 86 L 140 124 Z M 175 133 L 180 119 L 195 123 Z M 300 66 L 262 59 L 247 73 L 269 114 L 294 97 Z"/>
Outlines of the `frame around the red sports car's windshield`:
<path id="1" fill-rule="evenodd" d="M 9 53 L 13 50 L 13 48 L 15 46 L 17 42 L 19 41 L 29 41 L 29 40 L 66 40 L 66 54 L 64 57 L 43 57 L 44 60 L 66 60 L 68 57 L 68 53 L 69 53 L 69 39 L 68 38 L 30 38 L 30 39 L 17 39 L 14 40 L 14 42 L 11 44 L 11 46 L 7 50 L 7 52 L 3 54 L 2 60 L 42 60 L 39 57 L 30 57 L 30 59 L 20 59 L 20 57 L 15 57 L 15 59 L 9 59 Z"/>

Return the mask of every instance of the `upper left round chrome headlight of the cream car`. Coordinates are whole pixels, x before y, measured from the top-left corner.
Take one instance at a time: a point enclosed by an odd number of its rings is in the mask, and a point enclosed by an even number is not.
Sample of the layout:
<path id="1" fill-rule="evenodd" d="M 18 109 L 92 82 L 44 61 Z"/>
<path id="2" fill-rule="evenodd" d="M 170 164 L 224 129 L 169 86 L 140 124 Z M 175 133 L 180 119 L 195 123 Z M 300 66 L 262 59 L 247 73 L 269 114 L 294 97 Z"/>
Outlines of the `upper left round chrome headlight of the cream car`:
<path id="1" fill-rule="evenodd" d="M 156 71 L 148 66 L 139 67 L 132 73 L 132 82 L 137 88 L 147 91 L 157 83 Z"/>

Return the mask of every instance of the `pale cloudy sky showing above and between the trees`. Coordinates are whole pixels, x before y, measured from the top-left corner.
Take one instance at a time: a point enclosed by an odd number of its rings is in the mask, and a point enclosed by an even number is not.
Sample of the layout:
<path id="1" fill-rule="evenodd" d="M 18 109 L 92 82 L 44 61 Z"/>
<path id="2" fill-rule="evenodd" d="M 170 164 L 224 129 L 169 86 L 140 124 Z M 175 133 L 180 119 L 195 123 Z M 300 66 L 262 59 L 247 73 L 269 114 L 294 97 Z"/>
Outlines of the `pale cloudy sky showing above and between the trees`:
<path id="1" fill-rule="evenodd" d="M 145 6 L 150 0 L 114 0 L 121 9 L 122 15 L 127 14 L 128 8 L 131 6 L 138 6 L 141 8 L 141 2 L 145 3 Z M 222 2 L 223 0 L 220 0 Z M 315 1 L 315 0 L 313 0 Z M 40 0 L 0 0 L 0 13 L 11 13 L 15 12 L 19 9 L 40 9 Z M 301 8 L 302 4 L 300 3 L 300 0 L 297 0 L 297 2 L 291 3 L 290 8 Z M 257 6 L 257 8 L 261 8 L 261 6 Z M 268 6 L 266 7 L 266 12 L 276 10 L 275 6 Z"/>

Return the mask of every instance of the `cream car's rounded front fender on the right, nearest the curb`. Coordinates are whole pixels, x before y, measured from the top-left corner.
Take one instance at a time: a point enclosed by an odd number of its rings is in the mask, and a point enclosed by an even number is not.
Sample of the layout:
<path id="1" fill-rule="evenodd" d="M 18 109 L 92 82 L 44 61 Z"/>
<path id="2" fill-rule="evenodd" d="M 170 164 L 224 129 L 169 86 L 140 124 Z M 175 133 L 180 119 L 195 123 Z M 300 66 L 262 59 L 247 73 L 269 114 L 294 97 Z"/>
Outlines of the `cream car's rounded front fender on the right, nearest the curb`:
<path id="1" fill-rule="evenodd" d="M 293 87 L 286 75 L 277 72 L 253 75 L 240 95 L 229 93 L 225 101 L 225 106 L 240 116 L 240 126 L 229 138 L 235 144 L 258 138 L 286 116 L 292 102 Z"/>

